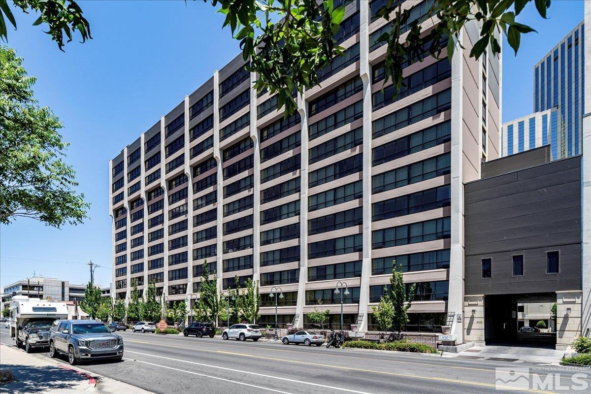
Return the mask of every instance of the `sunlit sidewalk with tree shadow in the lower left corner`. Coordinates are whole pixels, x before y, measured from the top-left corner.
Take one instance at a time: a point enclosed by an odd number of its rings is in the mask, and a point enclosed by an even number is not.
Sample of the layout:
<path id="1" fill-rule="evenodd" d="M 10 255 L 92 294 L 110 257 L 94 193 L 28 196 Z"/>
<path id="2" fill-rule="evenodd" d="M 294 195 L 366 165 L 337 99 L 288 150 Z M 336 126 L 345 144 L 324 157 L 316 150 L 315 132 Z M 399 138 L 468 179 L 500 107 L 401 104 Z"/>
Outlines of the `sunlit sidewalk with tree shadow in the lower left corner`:
<path id="1" fill-rule="evenodd" d="M 150 392 L 73 367 L 40 353 L 27 354 L 0 344 L 0 369 L 9 369 L 17 382 L 0 386 L 0 393 L 14 394 L 151 394 Z"/>

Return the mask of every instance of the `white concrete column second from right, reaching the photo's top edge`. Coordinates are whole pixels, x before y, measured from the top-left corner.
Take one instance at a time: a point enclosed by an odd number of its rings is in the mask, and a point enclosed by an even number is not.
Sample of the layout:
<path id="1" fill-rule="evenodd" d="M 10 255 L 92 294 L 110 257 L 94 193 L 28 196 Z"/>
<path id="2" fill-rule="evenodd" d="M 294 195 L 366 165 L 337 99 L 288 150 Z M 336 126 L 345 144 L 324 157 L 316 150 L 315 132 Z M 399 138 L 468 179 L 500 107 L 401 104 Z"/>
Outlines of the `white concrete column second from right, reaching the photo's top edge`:
<path id="1" fill-rule="evenodd" d="M 359 311 L 363 314 L 358 331 L 368 329 L 369 277 L 371 276 L 371 142 L 372 101 L 371 65 L 369 64 L 369 2 L 359 4 L 359 73 L 363 81 L 363 258 Z"/>

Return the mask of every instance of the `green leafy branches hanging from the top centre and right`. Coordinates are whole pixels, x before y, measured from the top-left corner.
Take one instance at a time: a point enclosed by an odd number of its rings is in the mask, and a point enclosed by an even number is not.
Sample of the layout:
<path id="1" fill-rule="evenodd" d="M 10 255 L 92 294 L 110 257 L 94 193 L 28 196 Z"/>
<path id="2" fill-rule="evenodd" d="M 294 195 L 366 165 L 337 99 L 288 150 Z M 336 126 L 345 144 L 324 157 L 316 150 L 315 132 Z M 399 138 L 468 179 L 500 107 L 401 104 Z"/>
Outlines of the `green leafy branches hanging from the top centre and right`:
<path id="1" fill-rule="evenodd" d="M 240 41 L 243 58 L 250 60 L 247 69 L 258 74 L 258 92 L 267 89 L 271 95 L 277 93 L 278 108 L 285 105 L 288 115 L 297 108 L 293 92 L 303 93 L 316 86 L 316 71 L 342 53 L 335 34 L 349 2 L 345 0 L 337 8 L 332 0 L 213 0 L 211 4 L 226 15 L 223 27 L 229 26 Z M 545 18 L 550 0 L 427 0 L 426 18 L 436 17 L 441 22 L 424 31 L 421 23 L 425 19 L 417 19 L 410 8 L 403 9 L 403 2 L 385 1 L 374 16 L 385 19 L 389 26 L 389 31 L 378 37 L 388 45 L 385 82 L 392 79 L 400 89 L 402 63 L 420 60 L 424 45 L 436 57 L 447 47 L 451 59 L 460 31 L 473 20 L 479 22 L 480 38 L 470 57 L 479 58 L 489 44 L 492 54 L 498 54 L 502 34 L 517 53 L 521 34 L 534 31 L 515 21 L 530 2 Z"/>

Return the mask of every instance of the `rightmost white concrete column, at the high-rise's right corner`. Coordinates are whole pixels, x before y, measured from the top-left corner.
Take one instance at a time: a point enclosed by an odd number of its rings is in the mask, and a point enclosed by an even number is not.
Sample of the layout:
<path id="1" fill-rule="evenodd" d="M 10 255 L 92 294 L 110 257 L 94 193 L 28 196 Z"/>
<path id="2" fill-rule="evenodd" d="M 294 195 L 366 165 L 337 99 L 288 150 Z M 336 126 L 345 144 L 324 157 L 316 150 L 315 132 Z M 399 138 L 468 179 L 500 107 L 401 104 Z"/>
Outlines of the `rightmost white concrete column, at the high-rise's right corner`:
<path id="1" fill-rule="evenodd" d="M 463 49 L 462 35 L 456 40 L 452 58 L 452 152 L 451 152 L 451 241 L 449 301 L 447 312 L 455 314 L 451 334 L 463 343 L 462 310 L 464 303 L 464 184 L 463 184 Z"/>

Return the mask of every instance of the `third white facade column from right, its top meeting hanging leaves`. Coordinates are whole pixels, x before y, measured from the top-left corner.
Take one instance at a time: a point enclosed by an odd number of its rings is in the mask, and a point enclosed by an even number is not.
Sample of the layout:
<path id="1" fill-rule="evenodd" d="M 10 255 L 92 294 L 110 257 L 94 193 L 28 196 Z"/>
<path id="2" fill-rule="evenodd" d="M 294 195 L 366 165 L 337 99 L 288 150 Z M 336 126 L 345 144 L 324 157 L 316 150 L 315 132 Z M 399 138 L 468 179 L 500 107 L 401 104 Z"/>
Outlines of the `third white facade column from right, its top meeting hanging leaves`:
<path id="1" fill-rule="evenodd" d="M 306 282 L 308 281 L 308 104 L 304 95 L 297 99 L 301 117 L 301 154 L 300 154 L 300 279 L 297 287 L 296 321 L 297 327 L 304 324 L 304 305 L 306 305 Z"/>

